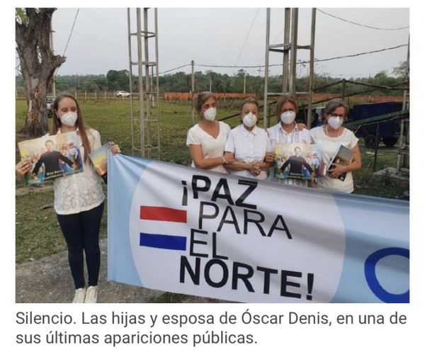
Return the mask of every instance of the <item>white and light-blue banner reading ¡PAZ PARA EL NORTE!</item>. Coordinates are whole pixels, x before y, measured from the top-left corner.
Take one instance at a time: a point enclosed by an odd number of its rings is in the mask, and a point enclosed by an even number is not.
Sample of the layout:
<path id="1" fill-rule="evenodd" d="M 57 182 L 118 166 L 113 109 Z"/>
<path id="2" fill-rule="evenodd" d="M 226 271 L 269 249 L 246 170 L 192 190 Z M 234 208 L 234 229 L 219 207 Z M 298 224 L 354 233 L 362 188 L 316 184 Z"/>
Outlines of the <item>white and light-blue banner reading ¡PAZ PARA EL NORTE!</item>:
<path id="1" fill-rule="evenodd" d="M 110 280 L 239 302 L 409 300 L 407 202 L 125 155 L 108 174 Z"/>

